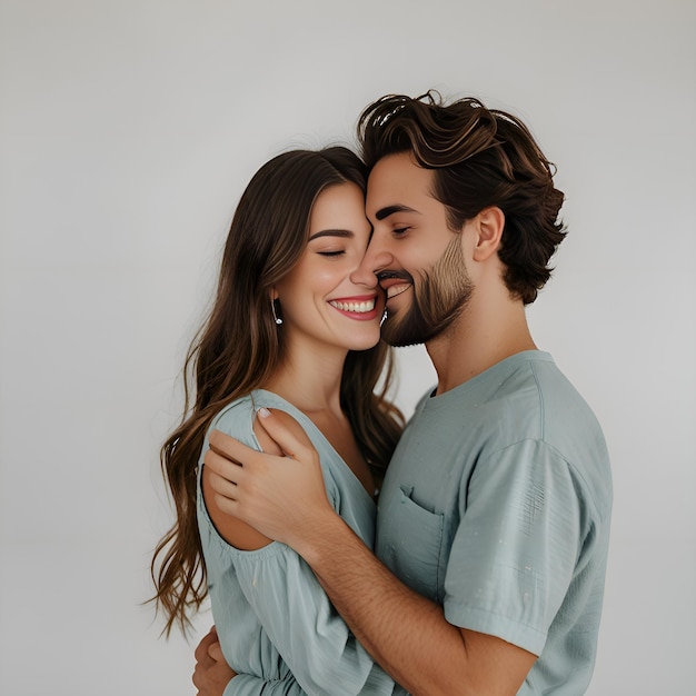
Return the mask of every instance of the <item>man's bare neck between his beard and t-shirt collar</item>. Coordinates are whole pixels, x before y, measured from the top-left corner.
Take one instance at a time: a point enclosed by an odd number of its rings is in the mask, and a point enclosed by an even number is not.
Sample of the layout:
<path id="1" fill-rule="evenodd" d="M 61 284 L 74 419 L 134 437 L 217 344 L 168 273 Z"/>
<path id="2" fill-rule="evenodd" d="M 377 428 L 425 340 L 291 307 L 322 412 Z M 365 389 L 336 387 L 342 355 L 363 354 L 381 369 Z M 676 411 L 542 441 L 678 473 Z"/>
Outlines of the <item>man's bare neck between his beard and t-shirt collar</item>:
<path id="1" fill-rule="evenodd" d="M 503 301 L 500 301 L 503 300 Z M 459 318 L 426 349 L 437 370 L 437 394 L 449 391 L 494 365 L 537 347 L 521 301 L 473 298 Z"/>

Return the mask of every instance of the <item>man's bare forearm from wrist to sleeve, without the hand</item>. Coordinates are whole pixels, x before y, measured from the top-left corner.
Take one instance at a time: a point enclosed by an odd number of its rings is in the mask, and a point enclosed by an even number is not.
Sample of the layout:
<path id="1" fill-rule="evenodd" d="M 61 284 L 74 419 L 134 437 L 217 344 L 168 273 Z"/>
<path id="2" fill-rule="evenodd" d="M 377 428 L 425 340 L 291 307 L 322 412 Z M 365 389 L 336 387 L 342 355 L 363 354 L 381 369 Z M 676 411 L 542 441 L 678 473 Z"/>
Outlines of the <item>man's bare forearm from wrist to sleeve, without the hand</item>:
<path id="1" fill-rule="evenodd" d="M 449 624 L 400 583 L 337 516 L 298 553 L 358 640 L 412 694 L 516 694 L 536 656 Z"/>

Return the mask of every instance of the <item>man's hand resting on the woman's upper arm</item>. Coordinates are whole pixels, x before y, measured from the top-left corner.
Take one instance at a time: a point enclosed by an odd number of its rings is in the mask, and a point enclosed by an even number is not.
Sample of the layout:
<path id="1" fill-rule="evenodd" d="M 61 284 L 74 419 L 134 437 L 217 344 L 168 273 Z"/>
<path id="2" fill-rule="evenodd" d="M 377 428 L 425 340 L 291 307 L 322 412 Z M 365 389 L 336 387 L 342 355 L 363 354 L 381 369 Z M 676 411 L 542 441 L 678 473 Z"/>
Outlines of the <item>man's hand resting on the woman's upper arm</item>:
<path id="1" fill-rule="evenodd" d="M 219 508 L 261 534 L 301 553 L 301 546 L 335 516 L 326 496 L 319 455 L 287 414 L 259 411 L 255 430 L 285 457 L 246 447 L 218 430 L 210 436 L 206 467 Z"/>

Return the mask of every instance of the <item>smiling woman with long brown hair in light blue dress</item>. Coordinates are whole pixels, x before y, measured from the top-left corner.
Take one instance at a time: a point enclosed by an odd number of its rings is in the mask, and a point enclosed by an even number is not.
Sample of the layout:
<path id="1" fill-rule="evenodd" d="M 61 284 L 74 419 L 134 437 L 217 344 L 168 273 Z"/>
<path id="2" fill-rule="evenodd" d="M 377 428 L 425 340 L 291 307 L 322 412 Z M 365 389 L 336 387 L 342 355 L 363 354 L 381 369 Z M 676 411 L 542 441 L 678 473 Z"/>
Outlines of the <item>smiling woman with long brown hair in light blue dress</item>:
<path id="1" fill-rule="evenodd" d="M 186 360 L 196 396 L 162 447 L 177 523 L 155 551 L 155 600 L 169 634 L 186 628 L 209 590 L 222 652 L 239 673 L 226 694 L 392 693 L 308 566 L 221 513 L 202 466 L 213 429 L 271 448 L 255 416 L 272 408 L 310 437 L 329 499 L 372 545 L 375 479 L 401 417 L 385 399 L 382 292 L 351 279 L 370 235 L 365 182 L 345 148 L 265 165 L 239 202 L 215 305 Z"/>

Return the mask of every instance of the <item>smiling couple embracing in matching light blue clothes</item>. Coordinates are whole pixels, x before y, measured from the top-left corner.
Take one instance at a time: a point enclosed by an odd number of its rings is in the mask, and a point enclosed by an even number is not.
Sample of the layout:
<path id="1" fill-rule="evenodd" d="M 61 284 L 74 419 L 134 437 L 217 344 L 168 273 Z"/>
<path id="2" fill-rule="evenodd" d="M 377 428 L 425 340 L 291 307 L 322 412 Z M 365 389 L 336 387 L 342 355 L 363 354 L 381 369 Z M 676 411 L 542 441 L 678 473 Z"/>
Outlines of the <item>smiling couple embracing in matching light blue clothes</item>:
<path id="1" fill-rule="evenodd" d="M 360 158 L 276 157 L 237 207 L 162 448 L 167 630 L 210 596 L 201 696 L 577 696 L 612 480 L 525 316 L 566 233 L 553 166 L 476 99 L 388 96 L 358 135 Z M 414 344 L 438 382 L 404 427 Z"/>

